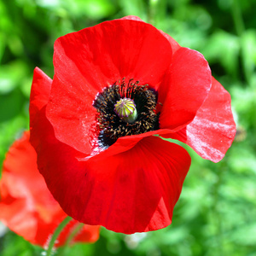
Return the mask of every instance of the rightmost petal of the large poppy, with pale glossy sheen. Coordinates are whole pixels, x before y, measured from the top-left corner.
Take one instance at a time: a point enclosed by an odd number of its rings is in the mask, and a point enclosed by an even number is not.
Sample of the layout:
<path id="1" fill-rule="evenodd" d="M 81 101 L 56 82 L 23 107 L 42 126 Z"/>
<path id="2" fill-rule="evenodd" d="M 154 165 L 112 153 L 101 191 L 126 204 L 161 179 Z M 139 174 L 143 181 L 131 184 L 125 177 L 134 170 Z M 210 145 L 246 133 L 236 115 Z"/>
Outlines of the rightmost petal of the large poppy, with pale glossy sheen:
<path id="1" fill-rule="evenodd" d="M 236 135 L 230 102 L 230 94 L 212 78 L 212 89 L 195 119 L 183 130 L 163 137 L 172 137 L 187 143 L 207 160 L 222 160 Z"/>

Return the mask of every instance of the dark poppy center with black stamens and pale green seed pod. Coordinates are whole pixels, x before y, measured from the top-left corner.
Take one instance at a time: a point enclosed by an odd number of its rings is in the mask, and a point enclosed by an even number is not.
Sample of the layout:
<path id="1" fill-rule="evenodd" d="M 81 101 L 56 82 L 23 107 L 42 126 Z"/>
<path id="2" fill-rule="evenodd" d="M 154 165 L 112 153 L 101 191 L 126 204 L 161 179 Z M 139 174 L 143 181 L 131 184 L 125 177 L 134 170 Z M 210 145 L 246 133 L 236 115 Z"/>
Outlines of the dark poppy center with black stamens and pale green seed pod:
<path id="1" fill-rule="evenodd" d="M 100 148 L 108 148 L 119 137 L 137 135 L 159 129 L 159 114 L 155 113 L 157 94 L 125 79 L 98 93 L 93 107 L 97 110 L 97 136 Z"/>

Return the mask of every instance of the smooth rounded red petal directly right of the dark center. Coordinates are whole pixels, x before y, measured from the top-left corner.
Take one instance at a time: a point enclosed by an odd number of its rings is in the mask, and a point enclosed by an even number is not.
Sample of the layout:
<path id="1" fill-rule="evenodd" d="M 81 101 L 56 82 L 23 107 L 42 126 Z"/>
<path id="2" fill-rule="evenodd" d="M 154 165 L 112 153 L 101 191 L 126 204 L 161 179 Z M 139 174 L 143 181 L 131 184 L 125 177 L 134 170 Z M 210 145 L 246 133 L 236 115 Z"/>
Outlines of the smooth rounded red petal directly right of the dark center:
<path id="1" fill-rule="evenodd" d="M 212 77 L 203 55 L 183 47 L 173 55 L 170 73 L 160 87 L 167 94 L 165 102 L 162 102 L 160 127 L 178 131 L 195 118 L 207 98 Z"/>

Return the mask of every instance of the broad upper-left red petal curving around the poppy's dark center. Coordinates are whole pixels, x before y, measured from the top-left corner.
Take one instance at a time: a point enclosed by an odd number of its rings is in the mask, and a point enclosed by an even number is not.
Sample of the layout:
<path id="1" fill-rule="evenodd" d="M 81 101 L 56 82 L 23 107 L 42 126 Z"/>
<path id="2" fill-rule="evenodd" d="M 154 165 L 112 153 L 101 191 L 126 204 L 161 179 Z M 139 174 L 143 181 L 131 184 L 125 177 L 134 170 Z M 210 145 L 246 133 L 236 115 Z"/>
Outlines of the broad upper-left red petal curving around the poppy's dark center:
<path id="1" fill-rule="evenodd" d="M 55 136 L 90 154 L 96 94 L 124 77 L 157 90 L 171 61 L 166 38 L 154 26 L 137 20 L 107 21 L 58 38 L 46 108 Z"/>

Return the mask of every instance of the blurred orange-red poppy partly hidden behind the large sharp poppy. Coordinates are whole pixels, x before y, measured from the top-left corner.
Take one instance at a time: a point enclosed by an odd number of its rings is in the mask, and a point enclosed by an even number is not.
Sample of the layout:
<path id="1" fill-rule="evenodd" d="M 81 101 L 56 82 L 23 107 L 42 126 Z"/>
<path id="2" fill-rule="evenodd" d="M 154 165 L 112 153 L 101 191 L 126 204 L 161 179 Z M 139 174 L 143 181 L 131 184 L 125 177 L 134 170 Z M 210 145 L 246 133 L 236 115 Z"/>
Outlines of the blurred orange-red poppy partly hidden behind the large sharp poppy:
<path id="1" fill-rule="evenodd" d="M 28 132 L 9 149 L 0 193 L 0 220 L 33 244 L 47 246 L 55 228 L 67 217 L 38 172 L 37 154 L 29 143 Z M 63 245 L 78 224 L 75 220 L 67 224 L 55 246 Z M 99 226 L 84 225 L 73 242 L 93 242 L 98 237 Z"/>

